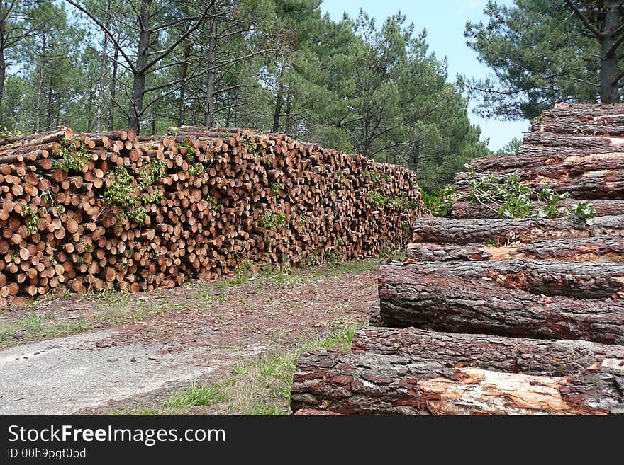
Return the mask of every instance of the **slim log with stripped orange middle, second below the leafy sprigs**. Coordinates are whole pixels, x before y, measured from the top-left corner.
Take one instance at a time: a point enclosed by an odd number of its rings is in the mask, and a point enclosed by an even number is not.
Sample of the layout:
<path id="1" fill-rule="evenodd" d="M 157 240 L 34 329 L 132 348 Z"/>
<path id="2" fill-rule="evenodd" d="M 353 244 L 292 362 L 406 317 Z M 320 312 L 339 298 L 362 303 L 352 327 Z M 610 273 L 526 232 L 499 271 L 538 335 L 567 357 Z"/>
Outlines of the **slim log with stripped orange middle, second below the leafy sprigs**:
<path id="1" fill-rule="evenodd" d="M 411 243 L 406 259 L 420 261 L 535 260 L 624 262 L 624 236 L 597 236 L 588 239 L 555 239 L 511 246 L 483 244 Z"/>

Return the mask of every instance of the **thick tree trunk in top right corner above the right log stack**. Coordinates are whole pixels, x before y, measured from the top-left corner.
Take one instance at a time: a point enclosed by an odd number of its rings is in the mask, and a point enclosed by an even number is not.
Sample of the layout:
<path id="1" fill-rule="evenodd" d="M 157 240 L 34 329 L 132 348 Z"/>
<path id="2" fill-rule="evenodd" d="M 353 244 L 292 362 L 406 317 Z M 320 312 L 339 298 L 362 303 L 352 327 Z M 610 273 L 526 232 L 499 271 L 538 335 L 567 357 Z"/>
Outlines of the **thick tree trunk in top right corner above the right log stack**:
<path id="1" fill-rule="evenodd" d="M 612 50 L 615 40 L 615 30 L 621 23 L 619 0 L 608 0 L 605 2 L 604 32 L 601 38 L 600 54 L 600 101 L 601 103 L 618 103 L 619 96 L 619 74 L 618 51 Z"/>

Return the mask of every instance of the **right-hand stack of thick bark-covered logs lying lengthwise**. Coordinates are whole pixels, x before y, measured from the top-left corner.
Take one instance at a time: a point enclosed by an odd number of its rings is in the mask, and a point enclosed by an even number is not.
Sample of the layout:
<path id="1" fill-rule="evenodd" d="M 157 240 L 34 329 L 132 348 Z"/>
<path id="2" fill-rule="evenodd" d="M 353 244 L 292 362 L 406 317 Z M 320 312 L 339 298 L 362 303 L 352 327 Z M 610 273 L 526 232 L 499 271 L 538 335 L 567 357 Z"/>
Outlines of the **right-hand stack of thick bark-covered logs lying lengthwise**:
<path id="1" fill-rule="evenodd" d="M 293 411 L 624 413 L 624 105 L 557 105 L 518 156 L 472 161 L 589 200 L 601 216 L 500 219 L 455 204 L 419 219 L 352 352 L 306 352 Z M 457 190 L 467 174 L 456 178 Z"/>

